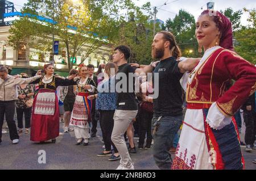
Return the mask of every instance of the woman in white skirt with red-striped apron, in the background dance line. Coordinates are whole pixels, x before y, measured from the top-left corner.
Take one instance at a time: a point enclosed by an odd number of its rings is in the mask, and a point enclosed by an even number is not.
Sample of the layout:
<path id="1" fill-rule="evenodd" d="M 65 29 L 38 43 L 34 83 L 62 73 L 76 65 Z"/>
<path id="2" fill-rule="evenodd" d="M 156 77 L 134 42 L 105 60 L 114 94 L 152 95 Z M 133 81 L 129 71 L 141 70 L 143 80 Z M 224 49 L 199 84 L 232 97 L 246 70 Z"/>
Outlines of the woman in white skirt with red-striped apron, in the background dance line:
<path id="1" fill-rule="evenodd" d="M 74 126 L 74 131 L 77 140 L 76 145 L 81 145 L 84 141 L 84 146 L 89 143 L 89 123 L 90 111 L 92 102 L 87 99 L 89 92 L 94 92 L 96 84 L 93 79 L 88 77 L 87 67 L 81 65 L 79 68 L 79 76 L 81 79 L 77 81 L 77 96 L 73 107 L 70 125 Z"/>

